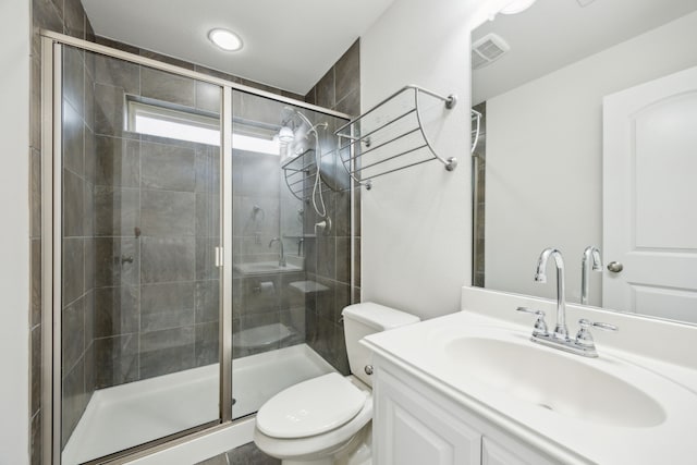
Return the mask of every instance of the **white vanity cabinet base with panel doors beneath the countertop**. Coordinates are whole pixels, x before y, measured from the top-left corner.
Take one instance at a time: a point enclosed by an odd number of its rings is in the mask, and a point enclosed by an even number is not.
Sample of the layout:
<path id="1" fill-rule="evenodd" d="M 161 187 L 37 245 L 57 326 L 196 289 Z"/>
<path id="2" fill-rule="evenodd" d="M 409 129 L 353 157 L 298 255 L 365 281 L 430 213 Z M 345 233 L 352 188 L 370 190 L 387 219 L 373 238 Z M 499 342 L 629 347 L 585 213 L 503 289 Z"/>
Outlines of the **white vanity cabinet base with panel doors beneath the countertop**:
<path id="1" fill-rule="evenodd" d="M 374 358 L 374 465 L 552 465 L 387 358 Z"/>

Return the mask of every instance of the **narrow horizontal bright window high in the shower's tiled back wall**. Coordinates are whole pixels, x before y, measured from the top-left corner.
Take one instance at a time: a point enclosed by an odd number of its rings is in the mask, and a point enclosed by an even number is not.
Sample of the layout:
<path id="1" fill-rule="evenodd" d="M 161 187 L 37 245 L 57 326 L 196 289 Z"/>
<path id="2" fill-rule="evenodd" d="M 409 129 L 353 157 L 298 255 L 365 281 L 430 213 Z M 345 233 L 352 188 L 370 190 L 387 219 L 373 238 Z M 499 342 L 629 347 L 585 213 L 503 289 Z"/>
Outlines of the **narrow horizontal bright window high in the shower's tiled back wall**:
<path id="1" fill-rule="evenodd" d="M 220 146 L 219 119 L 191 108 L 126 96 L 126 131 Z M 235 148 L 259 154 L 280 155 L 278 137 L 264 138 L 233 133 Z"/>

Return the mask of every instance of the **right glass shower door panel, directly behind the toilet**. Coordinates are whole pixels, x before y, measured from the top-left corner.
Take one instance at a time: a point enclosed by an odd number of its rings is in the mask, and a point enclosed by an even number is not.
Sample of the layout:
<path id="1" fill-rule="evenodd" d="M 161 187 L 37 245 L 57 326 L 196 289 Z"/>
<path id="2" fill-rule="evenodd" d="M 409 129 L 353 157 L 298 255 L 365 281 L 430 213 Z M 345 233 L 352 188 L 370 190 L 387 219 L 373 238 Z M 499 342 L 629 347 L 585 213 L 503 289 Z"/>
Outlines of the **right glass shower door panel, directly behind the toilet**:
<path id="1" fill-rule="evenodd" d="M 335 166 L 332 134 L 345 121 L 241 90 L 232 97 L 232 416 L 240 418 L 346 365 L 337 307 L 350 295 L 351 232 L 347 174 Z M 315 188 L 318 148 L 326 157 Z M 345 184 L 330 188 L 342 173 Z M 327 230 L 315 227 L 323 218 L 313 192 L 333 221 Z"/>

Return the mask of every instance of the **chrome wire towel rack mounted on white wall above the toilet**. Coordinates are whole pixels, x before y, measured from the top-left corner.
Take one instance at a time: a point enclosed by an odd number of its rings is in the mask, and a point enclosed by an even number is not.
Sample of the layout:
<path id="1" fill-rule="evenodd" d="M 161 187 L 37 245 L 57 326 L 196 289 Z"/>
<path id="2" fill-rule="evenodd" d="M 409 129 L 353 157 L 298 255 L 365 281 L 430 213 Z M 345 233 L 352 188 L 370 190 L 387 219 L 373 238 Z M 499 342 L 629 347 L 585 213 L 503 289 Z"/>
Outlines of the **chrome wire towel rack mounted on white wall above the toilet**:
<path id="1" fill-rule="evenodd" d="M 454 157 L 442 158 L 433 149 L 424 129 L 420 95 L 444 103 L 448 110 L 457 102 L 454 95 L 443 97 L 408 85 L 334 132 L 341 162 L 355 182 L 369 189 L 376 178 L 432 160 L 448 171 L 457 167 Z"/>

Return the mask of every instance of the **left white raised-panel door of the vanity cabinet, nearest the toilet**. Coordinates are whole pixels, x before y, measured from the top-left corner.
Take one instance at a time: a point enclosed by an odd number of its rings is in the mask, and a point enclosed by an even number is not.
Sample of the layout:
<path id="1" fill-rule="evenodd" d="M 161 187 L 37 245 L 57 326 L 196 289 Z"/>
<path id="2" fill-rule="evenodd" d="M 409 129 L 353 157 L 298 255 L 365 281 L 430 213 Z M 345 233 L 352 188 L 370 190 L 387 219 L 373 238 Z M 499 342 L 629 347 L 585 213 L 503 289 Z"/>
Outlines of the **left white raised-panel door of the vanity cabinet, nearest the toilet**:
<path id="1" fill-rule="evenodd" d="M 376 375 L 375 465 L 479 465 L 481 435 L 456 409 L 386 369 Z"/>

